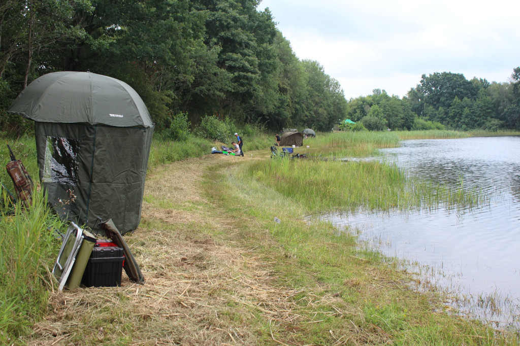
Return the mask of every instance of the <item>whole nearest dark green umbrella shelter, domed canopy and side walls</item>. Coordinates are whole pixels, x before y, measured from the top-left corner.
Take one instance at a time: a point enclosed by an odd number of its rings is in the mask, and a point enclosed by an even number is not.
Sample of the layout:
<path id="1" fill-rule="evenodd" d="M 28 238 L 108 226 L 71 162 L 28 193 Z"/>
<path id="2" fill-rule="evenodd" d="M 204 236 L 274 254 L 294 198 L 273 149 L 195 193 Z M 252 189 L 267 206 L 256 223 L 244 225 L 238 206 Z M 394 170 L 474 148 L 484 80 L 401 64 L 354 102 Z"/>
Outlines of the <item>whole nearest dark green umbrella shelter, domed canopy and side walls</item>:
<path id="1" fill-rule="evenodd" d="M 40 179 L 63 220 L 122 234 L 141 219 L 153 123 L 124 82 L 89 72 L 54 72 L 25 88 L 8 112 L 35 121 Z"/>

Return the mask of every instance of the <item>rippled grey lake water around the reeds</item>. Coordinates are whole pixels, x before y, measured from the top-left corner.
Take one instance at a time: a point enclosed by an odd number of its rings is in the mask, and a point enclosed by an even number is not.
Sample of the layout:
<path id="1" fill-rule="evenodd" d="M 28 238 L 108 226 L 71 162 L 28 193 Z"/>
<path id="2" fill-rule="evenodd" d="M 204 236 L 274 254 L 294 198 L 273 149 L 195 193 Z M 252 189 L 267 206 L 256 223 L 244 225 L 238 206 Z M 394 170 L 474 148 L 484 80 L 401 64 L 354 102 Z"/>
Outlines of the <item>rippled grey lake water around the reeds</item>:
<path id="1" fill-rule="evenodd" d="M 520 137 L 405 140 L 382 150 L 428 181 L 482 190 L 473 208 L 334 213 L 324 218 L 397 256 L 422 281 L 462 297 L 462 314 L 520 327 Z"/>

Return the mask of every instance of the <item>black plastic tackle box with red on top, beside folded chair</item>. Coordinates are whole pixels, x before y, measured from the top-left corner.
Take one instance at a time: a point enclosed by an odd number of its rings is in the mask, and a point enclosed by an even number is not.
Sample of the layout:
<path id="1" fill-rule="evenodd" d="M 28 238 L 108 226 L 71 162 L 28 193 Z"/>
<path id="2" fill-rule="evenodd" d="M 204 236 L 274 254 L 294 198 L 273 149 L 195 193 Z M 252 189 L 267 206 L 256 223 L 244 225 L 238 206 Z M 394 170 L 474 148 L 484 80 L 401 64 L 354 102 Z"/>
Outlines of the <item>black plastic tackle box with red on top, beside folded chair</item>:
<path id="1" fill-rule="evenodd" d="M 95 246 L 81 283 L 87 287 L 120 286 L 124 258 L 122 247 Z"/>

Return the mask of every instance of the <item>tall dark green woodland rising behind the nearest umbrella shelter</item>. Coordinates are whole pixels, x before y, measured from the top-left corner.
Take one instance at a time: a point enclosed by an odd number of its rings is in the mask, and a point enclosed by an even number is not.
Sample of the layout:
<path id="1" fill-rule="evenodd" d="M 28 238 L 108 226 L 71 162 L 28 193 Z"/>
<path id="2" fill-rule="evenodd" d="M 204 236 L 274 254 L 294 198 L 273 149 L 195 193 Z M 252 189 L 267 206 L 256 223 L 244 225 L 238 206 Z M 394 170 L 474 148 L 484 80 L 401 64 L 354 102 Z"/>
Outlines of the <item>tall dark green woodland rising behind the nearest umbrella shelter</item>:
<path id="1" fill-rule="evenodd" d="M 176 117 L 330 130 L 340 84 L 300 60 L 260 0 L 7 0 L 0 5 L 0 125 L 38 76 L 90 71 L 131 85 L 157 129 Z"/>

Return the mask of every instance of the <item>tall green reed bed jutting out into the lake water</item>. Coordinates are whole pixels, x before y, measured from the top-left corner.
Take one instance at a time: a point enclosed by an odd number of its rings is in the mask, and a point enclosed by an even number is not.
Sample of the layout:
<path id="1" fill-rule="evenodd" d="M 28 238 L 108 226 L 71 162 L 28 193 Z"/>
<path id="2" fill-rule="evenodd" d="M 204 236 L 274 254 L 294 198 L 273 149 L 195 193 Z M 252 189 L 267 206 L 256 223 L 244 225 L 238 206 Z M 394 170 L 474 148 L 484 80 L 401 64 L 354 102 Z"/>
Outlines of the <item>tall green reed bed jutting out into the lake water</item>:
<path id="1" fill-rule="evenodd" d="M 487 201 L 479 191 L 410 178 L 396 165 L 376 161 L 340 162 L 274 158 L 252 164 L 248 174 L 296 198 L 311 211 L 473 207 Z"/>

